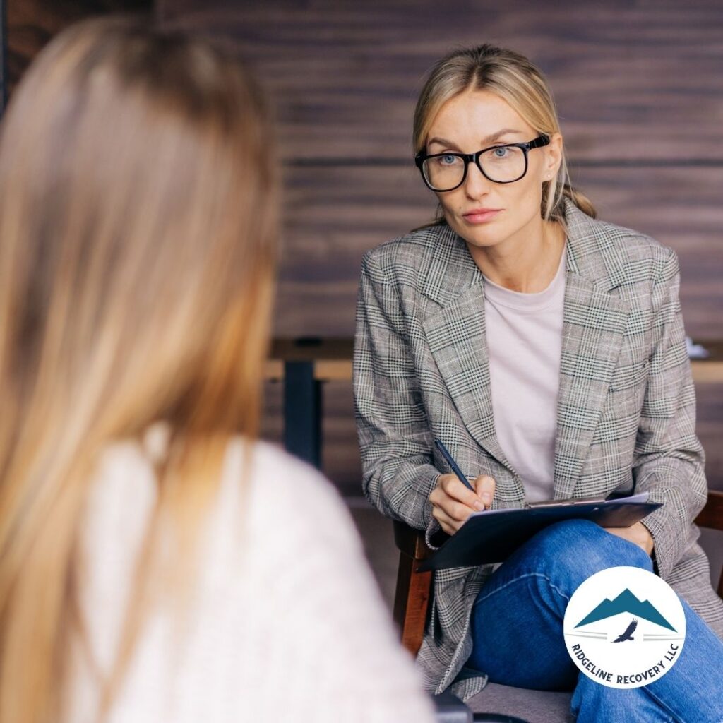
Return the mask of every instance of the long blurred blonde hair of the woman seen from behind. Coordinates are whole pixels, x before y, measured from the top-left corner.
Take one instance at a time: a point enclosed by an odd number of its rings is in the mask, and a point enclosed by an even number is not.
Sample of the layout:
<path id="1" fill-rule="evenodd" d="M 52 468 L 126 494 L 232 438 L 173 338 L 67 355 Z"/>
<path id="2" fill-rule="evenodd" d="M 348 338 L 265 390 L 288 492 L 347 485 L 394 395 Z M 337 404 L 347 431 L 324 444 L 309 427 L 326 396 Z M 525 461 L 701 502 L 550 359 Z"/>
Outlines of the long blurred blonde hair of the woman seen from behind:
<path id="1" fill-rule="evenodd" d="M 230 54 L 134 20 L 69 28 L 15 90 L 0 130 L 1 723 L 58 711 L 82 627 L 78 531 L 106 444 L 172 429 L 147 573 L 189 565 L 177 553 L 228 438 L 257 434 L 271 149 L 262 95 Z M 172 559 L 158 555 L 161 526 Z M 142 589 L 133 598 L 126 633 Z"/>

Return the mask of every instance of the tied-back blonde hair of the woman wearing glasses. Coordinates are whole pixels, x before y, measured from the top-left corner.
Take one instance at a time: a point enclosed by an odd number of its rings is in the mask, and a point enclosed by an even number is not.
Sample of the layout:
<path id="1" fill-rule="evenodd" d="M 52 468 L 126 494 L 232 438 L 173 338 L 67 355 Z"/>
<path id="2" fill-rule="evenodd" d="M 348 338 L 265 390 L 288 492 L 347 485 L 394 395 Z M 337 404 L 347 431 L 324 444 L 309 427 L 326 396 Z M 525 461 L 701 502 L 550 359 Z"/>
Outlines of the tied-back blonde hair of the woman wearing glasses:
<path id="1" fill-rule="evenodd" d="M 525 56 L 485 43 L 476 48 L 453 51 L 440 61 L 427 78 L 414 111 L 414 153 L 424 149 L 429 127 L 440 108 L 466 90 L 487 90 L 506 100 L 537 133 L 560 132 L 555 101 L 542 72 Z M 565 148 L 555 177 L 542 187 L 540 213 L 545 221 L 564 221 L 562 199 L 595 218 L 592 202 L 570 185 Z M 437 218 L 437 223 L 442 219 Z"/>

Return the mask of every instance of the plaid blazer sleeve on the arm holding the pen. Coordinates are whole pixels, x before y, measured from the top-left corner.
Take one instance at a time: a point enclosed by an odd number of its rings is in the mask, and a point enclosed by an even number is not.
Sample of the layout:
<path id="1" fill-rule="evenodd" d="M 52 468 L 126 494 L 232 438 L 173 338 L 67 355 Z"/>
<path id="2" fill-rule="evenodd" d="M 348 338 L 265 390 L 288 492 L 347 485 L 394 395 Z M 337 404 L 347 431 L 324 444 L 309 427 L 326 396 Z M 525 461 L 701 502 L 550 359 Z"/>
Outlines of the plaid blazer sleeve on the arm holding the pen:
<path id="1" fill-rule="evenodd" d="M 432 432 L 419 389 L 398 288 L 367 252 L 354 337 L 354 411 L 364 495 L 380 512 L 431 534 Z"/>

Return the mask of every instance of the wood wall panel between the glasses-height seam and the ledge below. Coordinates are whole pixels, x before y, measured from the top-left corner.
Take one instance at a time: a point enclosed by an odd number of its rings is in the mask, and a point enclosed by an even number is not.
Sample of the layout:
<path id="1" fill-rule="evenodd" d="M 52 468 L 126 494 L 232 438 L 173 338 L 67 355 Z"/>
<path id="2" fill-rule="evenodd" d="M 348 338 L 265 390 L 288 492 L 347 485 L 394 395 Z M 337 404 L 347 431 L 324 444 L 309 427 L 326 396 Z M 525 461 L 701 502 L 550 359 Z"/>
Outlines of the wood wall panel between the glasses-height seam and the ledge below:
<path id="1" fill-rule="evenodd" d="M 680 258 L 685 325 L 723 338 L 723 169 L 573 168 L 599 218 L 653 236 Z M 354 333 L 361 256 L 431 220 L 416 168 L 286 169 L 274 334 Z"/>

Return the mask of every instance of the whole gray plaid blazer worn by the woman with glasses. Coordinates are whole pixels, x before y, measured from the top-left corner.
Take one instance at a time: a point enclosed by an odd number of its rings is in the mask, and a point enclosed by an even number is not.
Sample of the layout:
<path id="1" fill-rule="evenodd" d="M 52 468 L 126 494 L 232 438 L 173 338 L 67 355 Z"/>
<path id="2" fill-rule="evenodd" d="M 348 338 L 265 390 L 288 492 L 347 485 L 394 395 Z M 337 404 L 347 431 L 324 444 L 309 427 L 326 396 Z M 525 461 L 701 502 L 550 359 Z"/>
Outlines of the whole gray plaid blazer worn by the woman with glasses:
<path id="1" fill-rule="evenodd" d="M 675 252 L 596 221 L 565 200 L 566 289 L 555 440 L 555 499 L 648 490 L 643 523 L 657 572 L 723 638 L 723 602 L 693 524 L 706 502 Z M 534 359 L 530 359 L 534 364 Z M 449 472 L 497 482 L 492 508 L 521 507 L 523 482 L 495 436 L 484 278 L 463 239 L 432 226 L 364 255 L 354 343 L 364 494 L 384 514 L 440 531 L 429 493 Z M 487 677 L 466 669 L 469 622 L 491 565 L 435 573 L 417 656 L 429 690 L 463 699 Z"/>

